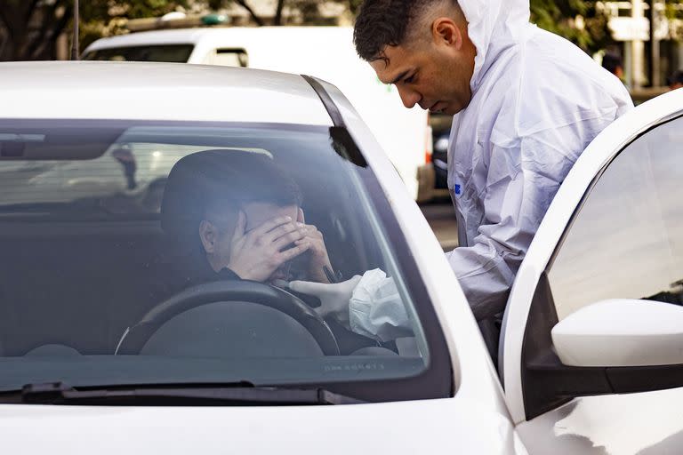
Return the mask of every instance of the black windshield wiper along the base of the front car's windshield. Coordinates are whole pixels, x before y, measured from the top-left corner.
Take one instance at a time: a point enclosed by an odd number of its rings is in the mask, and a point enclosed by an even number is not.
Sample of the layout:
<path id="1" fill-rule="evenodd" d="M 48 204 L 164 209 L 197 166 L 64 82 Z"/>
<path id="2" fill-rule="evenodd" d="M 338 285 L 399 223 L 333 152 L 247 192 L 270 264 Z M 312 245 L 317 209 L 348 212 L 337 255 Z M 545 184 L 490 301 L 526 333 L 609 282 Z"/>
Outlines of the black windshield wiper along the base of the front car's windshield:
<path id="1" fill-rule="evenodd" d="M 219 387 L 197 385 L 136 387 L 69 387 L 61 382 L 28 384 L 0 393 L 0 403 L 86 404 L 137 406 L 293 406 L 365 403 L 323 388 L 254 387 L 247 381 Z"/>

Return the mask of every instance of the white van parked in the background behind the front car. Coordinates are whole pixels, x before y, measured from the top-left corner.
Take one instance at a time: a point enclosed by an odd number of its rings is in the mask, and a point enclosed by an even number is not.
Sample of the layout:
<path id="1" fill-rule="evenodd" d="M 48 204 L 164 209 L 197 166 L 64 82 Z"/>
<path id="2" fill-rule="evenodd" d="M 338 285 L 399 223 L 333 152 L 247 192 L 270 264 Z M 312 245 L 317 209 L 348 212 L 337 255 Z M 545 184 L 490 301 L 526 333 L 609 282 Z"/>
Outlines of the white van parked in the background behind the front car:
<path id="1" fill-rule="evenodd" d="M 319 77 L 346 94 L 411 196 L 418 202 L 432 197 L 429 115 L 421 108 L 406 109 L 396 89 L 382 84 L 358 58 L 350 27 L 155 30 L 97 40 L 85 49 L 83 59 L 241 66 Z"/>

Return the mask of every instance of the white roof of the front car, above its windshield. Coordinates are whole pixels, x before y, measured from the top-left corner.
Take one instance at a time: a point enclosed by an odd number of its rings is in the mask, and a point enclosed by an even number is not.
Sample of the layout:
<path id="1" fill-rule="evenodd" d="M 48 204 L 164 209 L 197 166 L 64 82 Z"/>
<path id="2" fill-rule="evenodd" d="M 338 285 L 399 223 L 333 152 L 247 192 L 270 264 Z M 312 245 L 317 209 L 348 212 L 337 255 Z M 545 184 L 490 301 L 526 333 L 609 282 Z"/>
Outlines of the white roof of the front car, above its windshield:
<path id="1" fill-rule="evenodd" d="M 183 63 L 0 63 L 0 118 L 332 125 L 298 75 Z"/>

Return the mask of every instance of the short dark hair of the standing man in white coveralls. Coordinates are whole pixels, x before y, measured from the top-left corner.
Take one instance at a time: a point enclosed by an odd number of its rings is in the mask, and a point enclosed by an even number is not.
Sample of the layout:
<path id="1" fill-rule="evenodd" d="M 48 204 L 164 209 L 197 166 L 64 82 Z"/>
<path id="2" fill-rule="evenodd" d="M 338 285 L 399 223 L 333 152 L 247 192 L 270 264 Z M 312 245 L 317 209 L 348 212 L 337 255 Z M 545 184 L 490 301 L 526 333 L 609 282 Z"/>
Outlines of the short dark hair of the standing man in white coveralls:
<path id="1" fill-rule="evenodd" d="M 455 0 L 450 0 L 460 11 Z M 412 22 L 428 7 L 444 0 L 366 0 L 358 12 L 353 29 L 353 43 L 361 59 L 386 60 L 382 51 L 387 46 L 405 43 Z"/>

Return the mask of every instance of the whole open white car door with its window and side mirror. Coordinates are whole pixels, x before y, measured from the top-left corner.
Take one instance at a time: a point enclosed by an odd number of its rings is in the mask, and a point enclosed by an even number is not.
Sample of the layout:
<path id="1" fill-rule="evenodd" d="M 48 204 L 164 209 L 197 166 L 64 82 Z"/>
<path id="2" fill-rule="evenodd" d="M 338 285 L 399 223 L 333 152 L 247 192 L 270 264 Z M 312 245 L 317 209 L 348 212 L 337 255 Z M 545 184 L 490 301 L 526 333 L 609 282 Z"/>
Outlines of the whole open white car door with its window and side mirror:
<path id="1" fill-rule="evenodd" d="M 529 453 L 683 451 L 682 299 L 679 90 L 591 143 L 518 271 L 500 374 Z"/>

